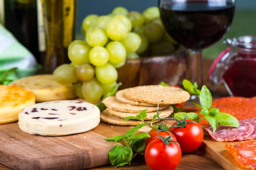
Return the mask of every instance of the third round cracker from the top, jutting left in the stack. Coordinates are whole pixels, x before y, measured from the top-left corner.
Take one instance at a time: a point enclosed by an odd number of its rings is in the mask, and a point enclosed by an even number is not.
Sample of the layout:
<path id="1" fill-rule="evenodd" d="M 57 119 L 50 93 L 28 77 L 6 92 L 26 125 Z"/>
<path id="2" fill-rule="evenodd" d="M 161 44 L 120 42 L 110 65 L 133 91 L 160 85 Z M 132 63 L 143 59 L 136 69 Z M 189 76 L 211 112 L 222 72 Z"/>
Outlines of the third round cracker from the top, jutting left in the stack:
<path id="1" fill-rule="evenodd" d="M 102 103 L 104 103 L 108 108 L 116 111 L 128 112 L 128 113 L 140 113 L 141 111 L 148 109 L 147 113 L 157 111 L 157 107 L 146 107 L 146 106 L 135 106 L 126 103 L 119 102 L 115 96 L 110 96 L 105 98 Z M 159 110 L 163 110 L 166 106 L 159 107 Z"/>

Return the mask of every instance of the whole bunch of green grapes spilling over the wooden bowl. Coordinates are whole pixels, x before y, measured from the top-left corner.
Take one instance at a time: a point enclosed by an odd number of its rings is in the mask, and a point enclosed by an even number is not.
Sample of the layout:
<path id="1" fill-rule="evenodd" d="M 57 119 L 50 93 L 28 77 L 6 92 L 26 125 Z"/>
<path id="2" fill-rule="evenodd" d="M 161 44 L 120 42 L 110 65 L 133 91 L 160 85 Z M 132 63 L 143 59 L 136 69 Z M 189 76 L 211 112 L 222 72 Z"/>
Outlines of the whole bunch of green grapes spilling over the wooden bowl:
<path id="1" fill-rule="evenodd" d="M 74 40 L 68 47 L 71 63 L 56 68 L 53 77 L 61 85 L 74 85 L 77 96 L 89 102 L 99 101 L 112 90 L 117 84 L 116 69 L 126 59 L 137 59 L 151 47 L 154 54 L 153 49 L 161 47 L 157 43 L 167 35 L 157 7 L 143 14 L 123 7 L 103 16 L 90 14 L 84 18 L 81 32 L 84 40 Z"/>

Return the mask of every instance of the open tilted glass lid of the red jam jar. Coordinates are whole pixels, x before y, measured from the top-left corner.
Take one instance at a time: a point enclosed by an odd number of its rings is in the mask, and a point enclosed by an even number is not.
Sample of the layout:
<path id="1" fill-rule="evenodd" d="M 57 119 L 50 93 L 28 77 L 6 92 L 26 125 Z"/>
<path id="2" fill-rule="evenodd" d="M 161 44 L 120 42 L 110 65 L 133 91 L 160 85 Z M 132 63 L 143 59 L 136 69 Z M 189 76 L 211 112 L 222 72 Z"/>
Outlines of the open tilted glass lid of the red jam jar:
<path id="1" fill-rule="evenodd" d="M 222 51 L 212 63 L 208 72 L 208 79 L 214 84 L 220 84 L 224 73 L 228 70 L 230 65 L 232 65 L 232 59 L 235 55 L 231 48 Z"/>

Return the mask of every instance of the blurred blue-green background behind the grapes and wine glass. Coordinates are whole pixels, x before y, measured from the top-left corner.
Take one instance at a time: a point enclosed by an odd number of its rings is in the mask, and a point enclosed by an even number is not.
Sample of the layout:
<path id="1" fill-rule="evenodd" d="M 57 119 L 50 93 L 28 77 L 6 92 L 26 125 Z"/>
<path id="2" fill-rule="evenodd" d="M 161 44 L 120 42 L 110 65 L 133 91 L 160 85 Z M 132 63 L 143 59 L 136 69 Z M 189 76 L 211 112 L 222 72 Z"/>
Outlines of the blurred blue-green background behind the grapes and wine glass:
<path id="1" fill-rule="evenodd" d="M 123 6 L 129 11 L 143 12 L 146 8 L 157 5 L 158 0 L 78 0 L 77 38 L 82 36 L 80 26 L 88 14 L 109 14 L 116 6 Z M 235 17 L 225 37 L 232 38 L 242 35 L 256 35 L 256 0 L 236 0 Z M 205 49 L 204 57 L 214 59 L 227 48 L 222 43 L 223 39 Z"/>

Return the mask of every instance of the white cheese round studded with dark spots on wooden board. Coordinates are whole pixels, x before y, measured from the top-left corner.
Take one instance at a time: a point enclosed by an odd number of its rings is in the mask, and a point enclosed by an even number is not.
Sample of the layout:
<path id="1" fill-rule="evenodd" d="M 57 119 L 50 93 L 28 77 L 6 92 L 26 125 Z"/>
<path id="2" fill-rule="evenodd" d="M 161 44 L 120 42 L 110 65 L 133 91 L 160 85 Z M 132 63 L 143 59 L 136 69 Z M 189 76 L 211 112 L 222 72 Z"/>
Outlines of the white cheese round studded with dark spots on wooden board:
<path id="1" fill-rule="evenodd" d="M 77 100 L 59 100 L 31 105 L 19 113 L 18 125 L 26 133 L 62 136 L 82 133 L 98 126 L 99 108 Z"/>

